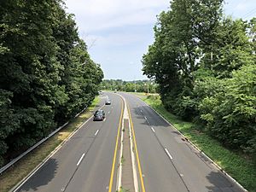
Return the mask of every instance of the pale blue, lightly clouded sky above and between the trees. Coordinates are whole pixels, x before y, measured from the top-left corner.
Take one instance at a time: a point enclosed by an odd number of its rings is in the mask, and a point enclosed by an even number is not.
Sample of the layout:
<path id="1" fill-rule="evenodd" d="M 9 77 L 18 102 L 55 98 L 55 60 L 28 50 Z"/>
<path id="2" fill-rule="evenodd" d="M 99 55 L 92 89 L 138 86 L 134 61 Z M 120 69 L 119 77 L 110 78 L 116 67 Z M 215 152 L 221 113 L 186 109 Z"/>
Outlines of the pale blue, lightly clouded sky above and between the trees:
<path id="1" fill-rule="evenodd" d="M 99 63 L 104 79 L 147 79 L 143 54 L 154 42 L 157 15 L 170 0 L 66 0 L 67 13 L 75 15 L 79 36 L 90 57 Z M 224 14 L 234 19 L 256 17 L 256 0 L 226 0 Z"/>

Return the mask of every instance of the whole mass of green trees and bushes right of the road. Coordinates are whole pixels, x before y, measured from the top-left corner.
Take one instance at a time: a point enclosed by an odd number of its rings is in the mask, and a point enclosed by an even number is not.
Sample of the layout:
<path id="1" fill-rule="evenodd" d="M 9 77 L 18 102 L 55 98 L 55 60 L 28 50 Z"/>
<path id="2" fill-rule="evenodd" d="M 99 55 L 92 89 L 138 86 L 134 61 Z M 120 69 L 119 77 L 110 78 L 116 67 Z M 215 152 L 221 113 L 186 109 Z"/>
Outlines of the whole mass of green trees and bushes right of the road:
<path id="1" fill-rule="evenodd" d="M 256 18 L 232 20 L 223 3 L 173 0 L 154 26 L 143 72 L 160 84 L 170 112 L 201 123 L 224 146 L 255 155 Z"/>

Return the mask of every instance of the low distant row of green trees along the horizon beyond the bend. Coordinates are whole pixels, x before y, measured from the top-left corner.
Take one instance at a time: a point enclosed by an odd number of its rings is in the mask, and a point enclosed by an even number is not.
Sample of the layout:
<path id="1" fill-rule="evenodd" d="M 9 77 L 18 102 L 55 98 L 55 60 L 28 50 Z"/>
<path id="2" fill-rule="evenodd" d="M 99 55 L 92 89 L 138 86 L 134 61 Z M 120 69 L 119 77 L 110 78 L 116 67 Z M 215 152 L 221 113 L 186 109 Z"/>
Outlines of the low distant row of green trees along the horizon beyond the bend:
<path id="1" fill-rule="evenodd" d="M 157 84 L 149 80 L 123 81 L 121 79 L 104 79 L 101 90 L 119 90 L 125 92 L 155 93 Z"/>

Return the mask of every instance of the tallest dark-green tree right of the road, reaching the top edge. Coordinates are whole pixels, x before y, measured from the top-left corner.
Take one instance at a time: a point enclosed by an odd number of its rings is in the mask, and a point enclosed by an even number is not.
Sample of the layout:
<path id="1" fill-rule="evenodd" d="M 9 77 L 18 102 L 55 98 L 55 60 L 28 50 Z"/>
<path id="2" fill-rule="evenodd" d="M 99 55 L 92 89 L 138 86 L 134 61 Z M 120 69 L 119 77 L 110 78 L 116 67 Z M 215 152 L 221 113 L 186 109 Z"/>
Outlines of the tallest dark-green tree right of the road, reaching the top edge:
<path id="1" fill-rule="evenodd" d="M 202 50 L 212 44 L 222 15 L 222 2 L 172 1 L 171 9 L 160 14 L 154 27 L 154 44 L 143 55 L 143 72 L 160 84 L 166 108 L 184 118 L 195 111 L 183 103 L 183 97 L 193 95 L 194 73 Z"/>

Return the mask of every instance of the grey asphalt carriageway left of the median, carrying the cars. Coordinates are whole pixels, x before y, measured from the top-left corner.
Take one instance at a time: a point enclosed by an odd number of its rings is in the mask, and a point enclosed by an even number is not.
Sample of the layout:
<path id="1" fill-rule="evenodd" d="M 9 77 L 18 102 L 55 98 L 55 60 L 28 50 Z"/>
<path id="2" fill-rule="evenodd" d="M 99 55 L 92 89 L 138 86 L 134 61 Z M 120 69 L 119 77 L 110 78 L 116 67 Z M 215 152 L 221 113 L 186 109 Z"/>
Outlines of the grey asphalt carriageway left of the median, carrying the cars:
<path id="1" fill-rule="evenodd" d="M 112 100 L 111 105 L 102 107 L 106 119 L 90 119 L 15 191 L 108 191 L 122 101 L 112 93 L 102 96 L 102 106 L 107 96 Z M 115 181 L 116 177 L 113 191 Z"/>

